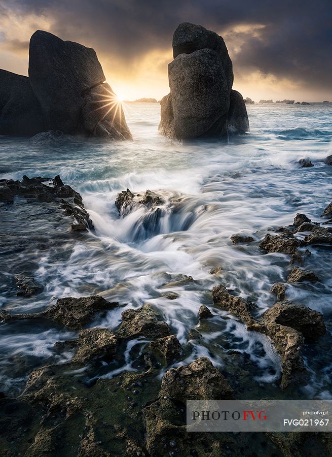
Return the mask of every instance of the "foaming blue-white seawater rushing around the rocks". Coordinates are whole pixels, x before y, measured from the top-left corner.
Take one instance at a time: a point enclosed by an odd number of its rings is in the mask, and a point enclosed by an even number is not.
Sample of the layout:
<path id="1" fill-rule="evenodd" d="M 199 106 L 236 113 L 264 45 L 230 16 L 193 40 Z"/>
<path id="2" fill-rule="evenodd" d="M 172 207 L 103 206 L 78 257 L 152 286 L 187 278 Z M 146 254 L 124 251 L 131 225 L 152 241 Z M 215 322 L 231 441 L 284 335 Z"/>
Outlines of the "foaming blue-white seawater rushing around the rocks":
<path id="1" fill-rule="evenodd" d="M 45 144 L 0 138 L 0 179 L 60 175 L 82 194 L 95 226 L 86 235 L 68 237 L 68 223 L 54 218 L 51 210 L 47 217 L 35 204 L 26 204 L 24 210 L 1 204 L 0 306 L 13 313 L 38 312 L 61 297 L 100 293 L 121 307 L 90 327 L 116 329 L 123 310 L 149 302 L 186 344 L 205 304 L 215 317 L 201 339 L 190 340 L 180 364 L 208 356 L 241 383 L 243 398 L 332 399 L 330 247 L 311 246 L 304 266 L 321 281 L 290 284 L 287 290 L 288 300 L 322 312 L 327 328 L 317 343 L 304 346 L 310 379 L 301 388 L 281 391 L 276 382 L 280 361 L 270 340 L 213 308 L 211 298 L 212 287 L 225 284 L 260 312 L 277 301 L 270 287 L 285 281 L 289 257 L 264 254 L 259 241 L 268 231 L 291 224 L 297 213 L 321 221 L 332 200 L 332 167 L 322 161 L 332 154 L 332 103 L 248 105 L 250 134 L 227 144 L 160 136 L 159 104 L 128 104 L 124 110 L 133 141 Z M 298 161 L 303 158 L 314 167 L 301 168 Z M 115 200 L 127 188 L 162 194 L 165 206 L 157 224 L 149 223 L 146 208 L 119 217 Z M 254 242 L 233 245 L 230 237 L 237 233 L 252 236 Z M 214 267 L 222 271 L 211 275 Z M 44 286 L 38 296 L 16 295 L 13 275 L 26 270 Z M 182 275 L 194 281 L 179 281 Z M 175 284 L 165 288 L 169 282 Z M 178 298 L 166 298 L 168 291 Z M 60 325 L 34 321 L 0 327 L 0 390 L 9 396 L 20 392 L 33 368 L 68 360 L 71 355 L 57 354 L 53 345 L 77 335 Z M 135 357 L 144 344 L 145 339 L 131 341 L 121 362 L 103 365 L 94 376 L 110 378 L 123 369 L 136 370 Z M 239 366 L 234 351 L 242 353 L 245 366 Z"/>

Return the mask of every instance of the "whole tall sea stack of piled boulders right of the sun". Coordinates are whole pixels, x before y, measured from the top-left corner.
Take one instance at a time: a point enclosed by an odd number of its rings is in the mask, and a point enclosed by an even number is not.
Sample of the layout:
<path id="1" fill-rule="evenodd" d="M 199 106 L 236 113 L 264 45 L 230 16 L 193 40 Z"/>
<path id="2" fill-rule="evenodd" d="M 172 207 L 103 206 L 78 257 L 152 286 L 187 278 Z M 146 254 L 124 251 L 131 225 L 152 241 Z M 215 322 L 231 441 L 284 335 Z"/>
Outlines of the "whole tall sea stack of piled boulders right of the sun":
<path id="1" fill-rule="evenodd" d="M 161 100 L 160 132 L 169 138 L 227 138 L 248 132 L 242 95 L 232 90 L 233 65 L 222 37 L 181 23 L 168 66 L 170 93 Z"/>

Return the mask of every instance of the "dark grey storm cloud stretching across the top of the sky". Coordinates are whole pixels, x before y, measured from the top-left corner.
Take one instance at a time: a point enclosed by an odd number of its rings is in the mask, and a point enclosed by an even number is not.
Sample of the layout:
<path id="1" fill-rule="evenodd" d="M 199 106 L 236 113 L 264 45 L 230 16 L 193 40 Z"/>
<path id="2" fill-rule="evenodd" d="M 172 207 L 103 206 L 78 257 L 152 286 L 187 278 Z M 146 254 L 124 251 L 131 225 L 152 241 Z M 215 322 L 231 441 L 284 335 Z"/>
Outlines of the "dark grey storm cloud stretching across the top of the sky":
<path id="1" fill-rule="evenodd" d="M 247 33 L 232 55 L 238 73 L 259 70 L 312 88 L 330 87 L 331 0 L 12 0 L 3 5 L 9 11 L 44 14 L 62 38 L 81 40 L 128 62 L 149 50 L 170 48 L 182 21 L 213 30 L 263 24 L 260 36 Z"/>

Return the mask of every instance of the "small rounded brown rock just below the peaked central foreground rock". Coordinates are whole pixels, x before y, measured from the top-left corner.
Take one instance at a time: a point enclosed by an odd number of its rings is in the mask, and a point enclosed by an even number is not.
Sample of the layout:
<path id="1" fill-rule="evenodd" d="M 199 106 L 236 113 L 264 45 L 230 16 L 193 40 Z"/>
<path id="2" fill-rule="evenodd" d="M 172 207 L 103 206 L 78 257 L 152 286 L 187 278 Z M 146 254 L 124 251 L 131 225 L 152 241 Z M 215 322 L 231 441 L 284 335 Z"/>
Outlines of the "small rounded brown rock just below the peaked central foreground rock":
<path id="1" fill-rule="evenodd" d="M 147 344 L 143 350 L 145 360 L 152 366 L 156 364 L 167 367 L 181 355 L 181 345 L 176 335 L 158 338 Z"/>

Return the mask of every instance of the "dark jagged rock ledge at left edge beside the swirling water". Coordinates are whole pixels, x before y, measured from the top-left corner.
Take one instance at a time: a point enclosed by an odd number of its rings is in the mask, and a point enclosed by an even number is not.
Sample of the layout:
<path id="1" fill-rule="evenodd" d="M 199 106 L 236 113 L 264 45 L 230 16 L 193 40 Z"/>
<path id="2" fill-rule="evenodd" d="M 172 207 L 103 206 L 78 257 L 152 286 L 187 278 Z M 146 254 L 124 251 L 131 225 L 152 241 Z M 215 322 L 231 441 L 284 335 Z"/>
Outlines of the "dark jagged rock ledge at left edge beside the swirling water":
<path id="1" fill-rule="evenodd" d="M 23 176 L 22 181 L 12 179 L 0 180 L 0 200 L 13 202 L 16 195 L 31 201 L 55 202 L 65 210 L 68 216 L 74 217 L 79 224 L 86 228 L 93 228 L 89 213 L 86 212 L 81 195 L 68 185 L 64 185 L 60 176 L 42 178 L 40 176 L 28 178 Z"/>

